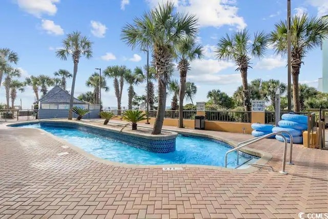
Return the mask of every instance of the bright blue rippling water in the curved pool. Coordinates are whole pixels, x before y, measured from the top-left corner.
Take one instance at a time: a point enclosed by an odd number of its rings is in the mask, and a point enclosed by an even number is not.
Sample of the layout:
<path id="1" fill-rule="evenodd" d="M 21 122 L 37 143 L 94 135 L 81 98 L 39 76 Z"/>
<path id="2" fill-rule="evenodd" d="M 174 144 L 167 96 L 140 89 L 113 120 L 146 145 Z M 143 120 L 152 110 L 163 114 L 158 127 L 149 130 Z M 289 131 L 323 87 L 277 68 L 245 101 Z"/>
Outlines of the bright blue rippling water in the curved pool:
<path id="1" fill-rule="evenodd" d="M 22 128 L 40 128 L 63 138 L 70 144 L 79 147 L 94 156 L 108 161 L 126 164 L 195 164 L 224 166 L 224 154 L 231 149 L 225 143 L 209 138 L 178 135 L 176 150 L 170 153 L 154 153 L 129 146 L 102 135 L 92 134 L 71 128 L 54 128 L 37 124 L 20 125 Z M 236 167 L 236 152 L 228 155 L 228 167 Z M 240 155 L 239 164 L 250 159 Z"/>

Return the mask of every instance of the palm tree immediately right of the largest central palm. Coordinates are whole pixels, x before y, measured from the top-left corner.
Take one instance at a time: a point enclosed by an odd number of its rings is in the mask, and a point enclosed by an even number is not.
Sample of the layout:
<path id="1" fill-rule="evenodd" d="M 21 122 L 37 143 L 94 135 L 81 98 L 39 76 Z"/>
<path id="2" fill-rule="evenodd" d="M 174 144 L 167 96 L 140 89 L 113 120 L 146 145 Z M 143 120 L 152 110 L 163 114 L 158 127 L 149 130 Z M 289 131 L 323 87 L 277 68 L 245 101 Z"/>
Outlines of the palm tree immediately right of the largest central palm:
<path id="1" fill-rule="evenodd" d="M 183 38 L 177 45 L 178 70 L 180 71 L 179 90 L 179 128 L 183 128 L 183 99 L 185 99 L 187 72 L 190 69 L 190 62 L 202 56 L 202 46 L 197 45 L 196 38 Z"/>

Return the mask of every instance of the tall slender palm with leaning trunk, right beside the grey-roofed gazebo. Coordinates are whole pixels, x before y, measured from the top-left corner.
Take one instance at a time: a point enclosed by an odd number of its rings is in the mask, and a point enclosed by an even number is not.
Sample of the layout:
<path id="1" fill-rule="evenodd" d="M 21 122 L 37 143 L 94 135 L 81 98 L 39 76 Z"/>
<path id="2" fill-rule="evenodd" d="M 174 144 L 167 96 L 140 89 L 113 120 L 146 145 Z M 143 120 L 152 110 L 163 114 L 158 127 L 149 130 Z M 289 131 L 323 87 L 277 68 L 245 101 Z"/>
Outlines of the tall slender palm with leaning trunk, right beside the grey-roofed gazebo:
<path id="1" fill-rule="evenodd" d="M 68 119 L 72 120 L 72 108 L 74 101 L 74 88 L 77 73 L 77 66 L 81 56 L 85 56 L 87 59 L 92 57 L 92 42 L 86 37 L 81 35 L 80 32 L 73 32 L 66 35 L 63 39 L 64 49 L 58 49 L 56 56 L 62 60 L 67 60 L 68 56 L 72 56 L 74 69 L 73 69 L 73 81 L 71 88 L 70 110 L 68 113 Z"/>

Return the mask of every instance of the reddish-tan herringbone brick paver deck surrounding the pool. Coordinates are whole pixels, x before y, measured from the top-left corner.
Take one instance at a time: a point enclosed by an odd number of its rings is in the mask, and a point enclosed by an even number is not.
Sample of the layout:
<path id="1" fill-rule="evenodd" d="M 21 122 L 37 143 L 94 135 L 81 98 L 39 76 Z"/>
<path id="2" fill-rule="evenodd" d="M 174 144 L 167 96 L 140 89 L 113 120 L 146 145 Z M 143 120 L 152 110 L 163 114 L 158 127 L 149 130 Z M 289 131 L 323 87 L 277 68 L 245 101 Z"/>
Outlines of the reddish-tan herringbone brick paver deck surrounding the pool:
<path id="1" fill-rule="evenodd" d="M 171 130 L 174 129 L 169 127 Z M 199 131 L 235 142 L 250 135 Z M 0 127 L 0 218 L 299 218 L 328 213 L 328 151 L 283 144 L 253 173 L 224 169 L 124 168 L 91 160 L 37 129 Z M 58 153 L 68 152 L 59 156 Z M 305 217 L 306 218 L 306 217 Z"/>

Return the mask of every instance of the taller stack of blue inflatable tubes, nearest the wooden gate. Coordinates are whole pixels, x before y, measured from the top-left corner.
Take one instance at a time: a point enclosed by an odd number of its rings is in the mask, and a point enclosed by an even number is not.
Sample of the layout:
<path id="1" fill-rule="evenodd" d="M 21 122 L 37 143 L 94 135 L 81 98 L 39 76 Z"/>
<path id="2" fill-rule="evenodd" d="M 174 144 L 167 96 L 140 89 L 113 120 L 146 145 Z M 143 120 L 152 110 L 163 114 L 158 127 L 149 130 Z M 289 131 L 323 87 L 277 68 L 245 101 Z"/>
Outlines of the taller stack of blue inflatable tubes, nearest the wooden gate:
<path id="1" fill-rule="evenodd" d="M 282 120 L 278 122 L 278 126 L 274 127 L 272 131 L 286 131 L 293 136 L 293 143 L 302 144 L 302 133 L 304 130 L 308 129 L 308 116 L 286 113 L 281 116 L 281 119 Z M 282 134 L 286 137 L 288 143 L 290 143 L 291 140 L 289 135 L 285 133 Z M 276 135 L 276 139 L 283 142 L 283 138 L 279 135 Z"/>

